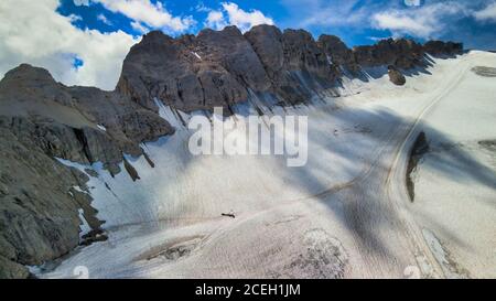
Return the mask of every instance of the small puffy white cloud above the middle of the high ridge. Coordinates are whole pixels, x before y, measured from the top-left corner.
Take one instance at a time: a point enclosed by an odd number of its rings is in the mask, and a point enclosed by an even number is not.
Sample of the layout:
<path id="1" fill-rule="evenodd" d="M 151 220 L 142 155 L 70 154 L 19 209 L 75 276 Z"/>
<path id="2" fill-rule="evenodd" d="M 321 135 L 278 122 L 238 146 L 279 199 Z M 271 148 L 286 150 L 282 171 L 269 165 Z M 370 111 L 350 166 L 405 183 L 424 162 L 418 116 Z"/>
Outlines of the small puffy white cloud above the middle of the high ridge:
<path id="1" fill-rule="evenodd" d="M 204 7 L 202 7 L 202 11 L 205 11 Z M 208 10 L 208 15 L 205 21 L 206 26 L 215 30 L 222 30 L 227 25 L 236 25 L 242 32 L 248 31 L 255 25 L 273 25 L 273 20 L 266 17 L 261 11 L 245 11 L 233 2 L 223 2 L 222 10 Z"/>

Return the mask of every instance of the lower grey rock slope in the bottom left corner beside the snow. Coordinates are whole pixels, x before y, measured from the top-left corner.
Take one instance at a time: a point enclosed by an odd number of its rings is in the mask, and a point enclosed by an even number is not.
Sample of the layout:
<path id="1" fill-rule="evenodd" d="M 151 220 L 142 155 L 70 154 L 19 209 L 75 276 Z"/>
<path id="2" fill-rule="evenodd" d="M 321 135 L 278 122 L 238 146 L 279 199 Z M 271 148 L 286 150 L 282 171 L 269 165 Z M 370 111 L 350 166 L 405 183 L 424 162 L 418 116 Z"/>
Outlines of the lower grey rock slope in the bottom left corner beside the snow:
<path id="1" fill-rule="evenodd" d="M 78 209 L 89 206 L 69 194 L 73 186 L 85 187 L 85 175 L 57 163 L 28 135 L 17 136 L 12 121 L 0 119 L 1 270 L 41 265 L 72 250 L 78 245 Z"/>

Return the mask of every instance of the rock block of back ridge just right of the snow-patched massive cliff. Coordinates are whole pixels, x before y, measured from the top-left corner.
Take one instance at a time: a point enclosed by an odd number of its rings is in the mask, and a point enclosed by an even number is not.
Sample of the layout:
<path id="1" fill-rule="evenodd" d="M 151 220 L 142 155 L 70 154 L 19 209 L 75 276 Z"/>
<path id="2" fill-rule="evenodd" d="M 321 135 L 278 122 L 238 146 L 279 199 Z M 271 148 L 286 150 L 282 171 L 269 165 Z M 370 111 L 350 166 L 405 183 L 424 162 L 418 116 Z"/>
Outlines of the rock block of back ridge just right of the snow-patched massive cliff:
<path id="1" fill-rule="evenodd" d="M 337 72 L 309 32 L 258 25 L 245 36 L 266 68 L 270 92 L 282 101 L 302 103 L 334 85 Z"/>

